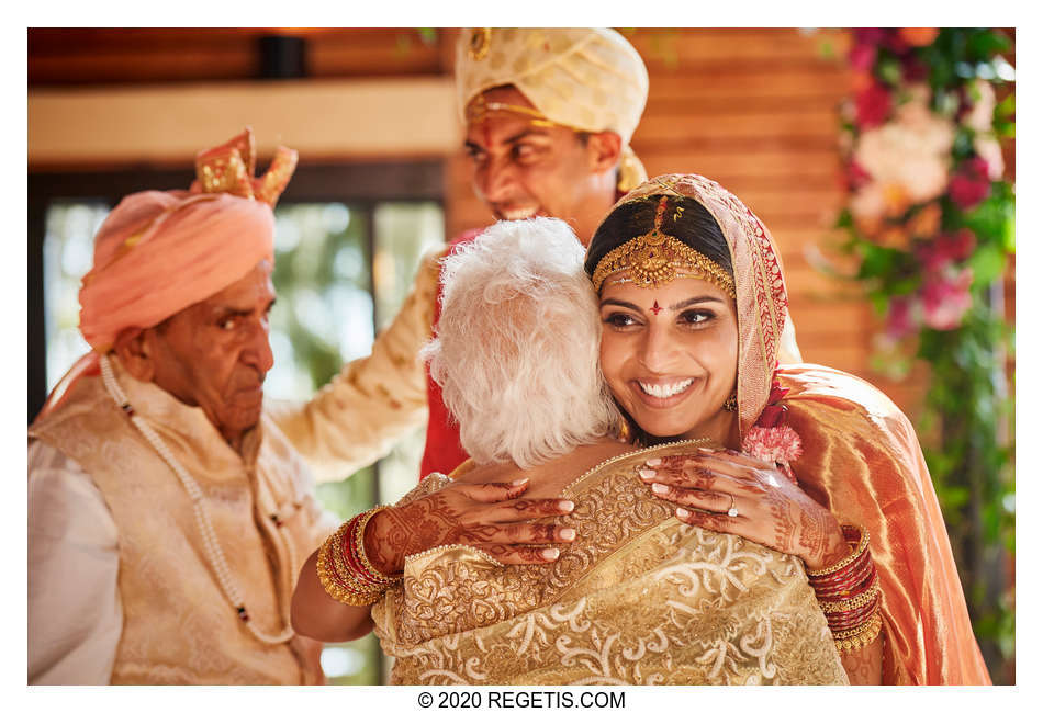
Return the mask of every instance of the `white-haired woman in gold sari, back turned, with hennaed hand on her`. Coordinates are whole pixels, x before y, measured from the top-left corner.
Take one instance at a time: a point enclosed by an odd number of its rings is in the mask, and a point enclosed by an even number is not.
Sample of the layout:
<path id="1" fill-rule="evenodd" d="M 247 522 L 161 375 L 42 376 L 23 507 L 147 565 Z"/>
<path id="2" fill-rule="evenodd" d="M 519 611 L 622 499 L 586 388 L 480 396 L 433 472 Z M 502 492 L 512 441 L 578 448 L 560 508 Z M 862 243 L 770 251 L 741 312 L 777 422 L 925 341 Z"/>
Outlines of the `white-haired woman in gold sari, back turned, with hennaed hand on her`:
<path id="1" fill-rule="evenodd" d="M 692 528 L 614 438 L 583 248 L 500 223 L 447 259 L 431 372 L 472 460 L 346 522 L 304 566 L 293 623 L 375 622 L 396 683 L 843 683 L 804 569 Z"/>

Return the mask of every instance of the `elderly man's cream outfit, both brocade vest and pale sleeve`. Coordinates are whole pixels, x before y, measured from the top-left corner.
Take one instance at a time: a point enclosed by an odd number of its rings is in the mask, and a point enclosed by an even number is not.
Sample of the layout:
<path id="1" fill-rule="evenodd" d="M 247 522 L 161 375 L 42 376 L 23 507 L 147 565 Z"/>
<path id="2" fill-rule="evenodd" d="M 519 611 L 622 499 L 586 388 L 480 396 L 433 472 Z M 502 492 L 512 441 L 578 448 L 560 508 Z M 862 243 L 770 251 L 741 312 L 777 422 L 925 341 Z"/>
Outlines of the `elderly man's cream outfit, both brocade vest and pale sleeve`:
<path id="1" fill-rule="evenodd" d="M 303 559 L 329 531 L 309 471 L 270 419 L 233 451 L 202 410 L 113 362 L 138 415 L 200 485 L 253 622 L 274 634 Z M 255 638 L 222 595 L 191 501 L 83 376 L 30 429 L 31 683 L 305 683 L 316 648 Z M 277 524 L 278 520 L 281 524 Z"/>

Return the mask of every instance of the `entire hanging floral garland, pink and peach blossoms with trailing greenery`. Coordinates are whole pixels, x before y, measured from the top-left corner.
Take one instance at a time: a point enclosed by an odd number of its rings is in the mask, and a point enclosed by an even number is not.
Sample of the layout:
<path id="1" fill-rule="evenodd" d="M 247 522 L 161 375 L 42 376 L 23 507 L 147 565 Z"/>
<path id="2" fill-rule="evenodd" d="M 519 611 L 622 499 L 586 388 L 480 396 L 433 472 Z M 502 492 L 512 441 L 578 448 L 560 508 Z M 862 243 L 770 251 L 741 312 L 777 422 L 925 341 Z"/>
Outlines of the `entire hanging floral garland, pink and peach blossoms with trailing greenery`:
<path id="1" fill-rule="evenodd" d="M 983 653 L 1002 678 L 1012 618 L 975 578 L 1002 559 L 1012 533 L 1001 426 L 1012 332 L 996 288 L 1014 250 L 1001 147 L 1014 128 L 1014 72 L 1003 56 L 1011 43 L 999 31 L 963 27 L 857 29 L 852 39 L 842 249 L 884 318 L 874 367 L 905 376 L 913 359 L 930 364 L 924 454 Z"/>

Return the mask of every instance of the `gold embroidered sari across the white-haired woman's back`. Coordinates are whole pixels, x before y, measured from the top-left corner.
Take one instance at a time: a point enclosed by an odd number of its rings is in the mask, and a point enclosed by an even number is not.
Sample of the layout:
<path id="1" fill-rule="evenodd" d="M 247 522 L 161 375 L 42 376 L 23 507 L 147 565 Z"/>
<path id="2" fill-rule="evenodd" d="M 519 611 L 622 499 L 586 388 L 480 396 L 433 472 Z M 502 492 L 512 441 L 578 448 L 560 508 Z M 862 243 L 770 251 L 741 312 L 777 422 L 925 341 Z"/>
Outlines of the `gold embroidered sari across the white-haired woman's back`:
<path id="1" fill-rule="evenodd" d="M 567 487 L 575 509 L 560 520 L 577 534 L 554 563 L 460 545 L 406 557 L 372 610 L 391 682 L 848 683 L 798 558 L 684 524 L 640 480 L 646 459 L 685 448 L 612 459 Z"/>

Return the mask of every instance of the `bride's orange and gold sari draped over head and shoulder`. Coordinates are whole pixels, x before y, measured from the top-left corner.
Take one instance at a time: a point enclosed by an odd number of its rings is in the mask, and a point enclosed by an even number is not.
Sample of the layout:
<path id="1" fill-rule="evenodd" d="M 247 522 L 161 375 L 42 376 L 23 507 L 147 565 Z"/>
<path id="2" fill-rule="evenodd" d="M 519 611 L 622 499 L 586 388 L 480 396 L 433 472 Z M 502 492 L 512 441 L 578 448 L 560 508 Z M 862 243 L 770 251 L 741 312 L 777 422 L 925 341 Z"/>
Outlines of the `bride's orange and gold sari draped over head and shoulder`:
<path id="1" fill-rule="evenodd" d="M 739 430 L 767 405 L 788 301 L 771 235 L 734 195 L 702 176 L 651 179 L 621 201 L 649 195 L 698 201 L 731 251 L 739 316 Z M 618 205 L 618 204 L 617 204 Z M 800 487 L 841 522 L 872 537 L 883 590 L 884 683 L 983 684 L 978 650 L 945 523 L 909 420 L 877 388 L 816 364 L 778 372 L 789 393 L 786 423 L 804 454 L 790 466 Z"/>

